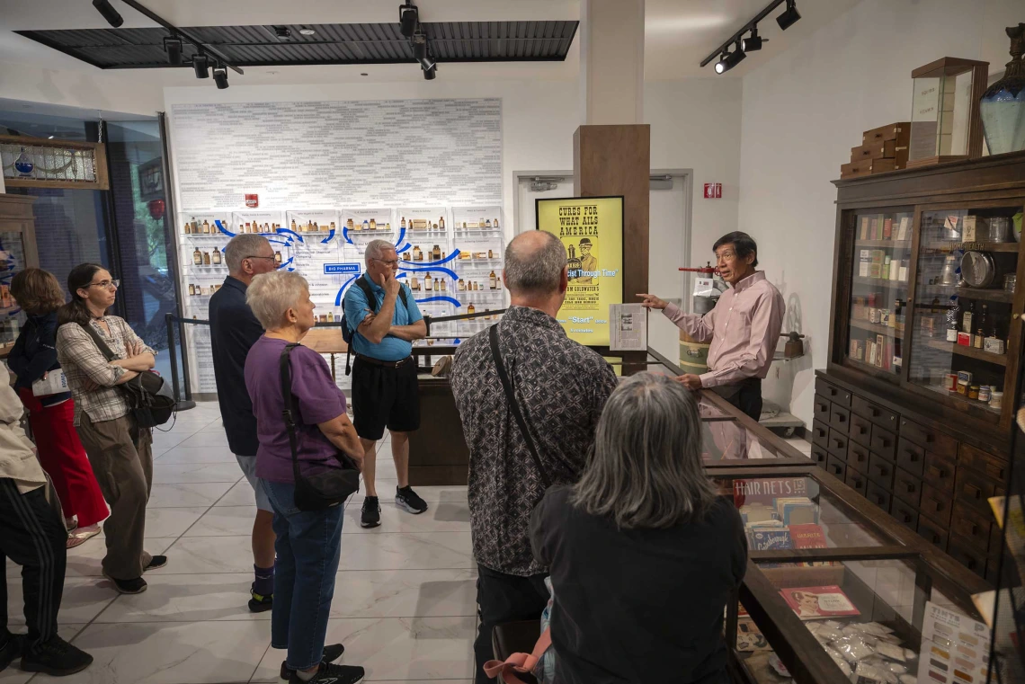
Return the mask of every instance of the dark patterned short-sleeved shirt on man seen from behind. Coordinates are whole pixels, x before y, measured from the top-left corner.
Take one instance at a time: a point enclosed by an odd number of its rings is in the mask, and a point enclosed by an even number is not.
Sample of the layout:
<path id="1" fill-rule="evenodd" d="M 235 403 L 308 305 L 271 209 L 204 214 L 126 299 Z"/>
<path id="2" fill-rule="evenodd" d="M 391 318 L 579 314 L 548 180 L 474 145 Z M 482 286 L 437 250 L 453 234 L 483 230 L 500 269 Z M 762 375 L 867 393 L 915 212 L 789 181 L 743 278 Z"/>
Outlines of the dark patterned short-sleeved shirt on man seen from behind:
<path id="1" fill-rule="evenodd" d="M 575 482 L 616 374 L 543 311 L 512 306 L 496 325 L 502 360 L 541 463 L 552 484 Z M 544 483 L 509 412 L 487 331 L 459 345 L 451 383 L 469 447 L 474 556 L 499 572 L 543 572 L 528 535 Z"/>

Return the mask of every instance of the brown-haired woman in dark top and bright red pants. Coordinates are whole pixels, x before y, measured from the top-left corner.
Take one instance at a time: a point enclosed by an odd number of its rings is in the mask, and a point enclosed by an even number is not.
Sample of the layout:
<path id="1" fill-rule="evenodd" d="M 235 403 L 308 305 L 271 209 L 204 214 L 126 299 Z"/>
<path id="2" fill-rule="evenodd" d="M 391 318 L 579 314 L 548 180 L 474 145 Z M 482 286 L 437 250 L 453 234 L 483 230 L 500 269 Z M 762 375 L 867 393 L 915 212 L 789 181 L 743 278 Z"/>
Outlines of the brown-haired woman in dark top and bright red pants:
<path id="1" fill-rule="evenodd" d="M 64 291 L 52 273 L 27 268 L 11 280 L 10 293 L 29 320 L 7 356 L 7 366 L 17 376 L 14 388 L 29 410 L 39 461 L 53 480 L 65 522 L 73 529 L 68 539 L 72 548 L 99 533 L 97 523 L 107 518 L 108 509 L 75 430 L 71 392 L 67 383 L 56 382 L 64 376 L 54 345 L 56 310 L 64 304 Z M 41 387 L 36 391 L 50 393 L 37 395 L 33 383 L 46 380 L 56 386 Z"/>

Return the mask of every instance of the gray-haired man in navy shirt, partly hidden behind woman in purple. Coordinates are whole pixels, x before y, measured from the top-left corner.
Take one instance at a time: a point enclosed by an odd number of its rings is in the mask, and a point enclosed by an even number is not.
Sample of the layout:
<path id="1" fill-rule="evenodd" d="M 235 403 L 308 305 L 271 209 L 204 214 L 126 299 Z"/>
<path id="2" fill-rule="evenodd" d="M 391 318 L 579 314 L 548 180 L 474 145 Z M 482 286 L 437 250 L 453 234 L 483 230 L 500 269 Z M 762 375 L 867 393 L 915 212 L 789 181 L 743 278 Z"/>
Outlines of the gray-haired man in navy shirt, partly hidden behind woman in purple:
<path id="1" fill-rule="evenodd" d="M 263 327 L 246 304 L 246 288 L 253 276 L 275 269 L 274 250 L 262 236 L 236 236 L 224 248 L 228 277 L 210 297 L 210 347 L 213 377 L 217 383 L 220 420 L 228 445 L 242 472 L 256 491 L 253 521 L 253 580 L 249 609 L 270 610 L 274 595 L 274 510 L 256 481 L 256 418 L 246 391 L 245 368 L 249 348 L 263 334 Z"/>

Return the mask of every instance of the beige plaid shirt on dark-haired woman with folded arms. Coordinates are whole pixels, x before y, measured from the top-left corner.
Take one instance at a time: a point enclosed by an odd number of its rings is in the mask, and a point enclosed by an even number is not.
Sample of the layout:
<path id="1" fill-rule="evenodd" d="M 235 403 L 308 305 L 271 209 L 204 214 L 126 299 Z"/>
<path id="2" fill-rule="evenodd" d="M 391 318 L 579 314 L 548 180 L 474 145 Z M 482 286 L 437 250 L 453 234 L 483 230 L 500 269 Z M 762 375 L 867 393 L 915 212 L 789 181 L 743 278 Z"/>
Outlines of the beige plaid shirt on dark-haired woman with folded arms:
<path id="1" fill-rule="evenodd" d="M 104 320 L 111 328 L 110 335 L 96 320 L 89 325 L 99 333 L 116 358 L 128 357 L 126 343 L 142 343 L 124 318 L 109 315 Z M 146 343 L 142 346 L 145 351 L 157 354 Z M 125 369 L 109 364 L 92 337 L 77 323 L 66 323 L 57 329 L 57 360 L 75 399 L 75 425 L 80 424 L 83 411 L 93 423 L 128 415 L 124 392 L 116 386 Z"/>

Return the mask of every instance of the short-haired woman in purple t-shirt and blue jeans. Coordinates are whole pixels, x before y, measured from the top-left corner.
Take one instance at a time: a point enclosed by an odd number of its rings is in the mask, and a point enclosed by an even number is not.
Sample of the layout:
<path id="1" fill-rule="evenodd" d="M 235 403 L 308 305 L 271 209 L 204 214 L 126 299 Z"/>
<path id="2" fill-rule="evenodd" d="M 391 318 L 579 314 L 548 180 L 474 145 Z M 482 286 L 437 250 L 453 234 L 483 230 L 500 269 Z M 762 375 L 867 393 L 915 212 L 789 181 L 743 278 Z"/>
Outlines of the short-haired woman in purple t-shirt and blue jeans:
<path id="1" fill-rule="evenodd" d="M 256 476 L 274 508 L 275 595 L 271 645 L 287 648 L 282 679 L 290 684 L 363 680 L 363 668 L 331 665 L 343 647 L 324 647 L 341 550 L 343 506 L 326 511 L 295 507 L 295 480 L 288 431 L 282 417 L 279 358 L 286 345 L 298 343 L 314 326 L 310 286 L 298 273 L 275 271 L 253 279 L 246 303 L 266 331 L 246 357 L 246 389 L 256 417 Z M 345 395 L 331 380 L 327 362 L 313 349 L 298 346 L 289 357 L 298 459 L 324 462 L 342 451 L 363 461 L 356 429 L 345 415 Z"/>

